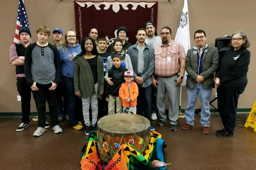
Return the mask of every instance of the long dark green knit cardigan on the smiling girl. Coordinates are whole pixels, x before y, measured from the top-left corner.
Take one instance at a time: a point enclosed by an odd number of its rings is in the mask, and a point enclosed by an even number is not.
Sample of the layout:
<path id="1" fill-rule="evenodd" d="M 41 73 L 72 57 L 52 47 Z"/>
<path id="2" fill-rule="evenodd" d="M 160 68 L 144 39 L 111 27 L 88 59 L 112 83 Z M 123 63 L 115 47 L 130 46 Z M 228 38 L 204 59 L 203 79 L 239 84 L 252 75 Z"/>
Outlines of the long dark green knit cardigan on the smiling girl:
<path id="1" fill-rule="evenodd" d="M 104 69 L 102 59 L 97 55 L 97 70 L 98 70 L 98 90 L 97 98 L 101 99 L 99 91 L 104 91 Z M 75 92 L 81 93 L 81 98 L 93 96 L 95 92 L 93 73 L 87 60 L 84 56 L 75 58 L 74 61 L 74 87 Z"/>

